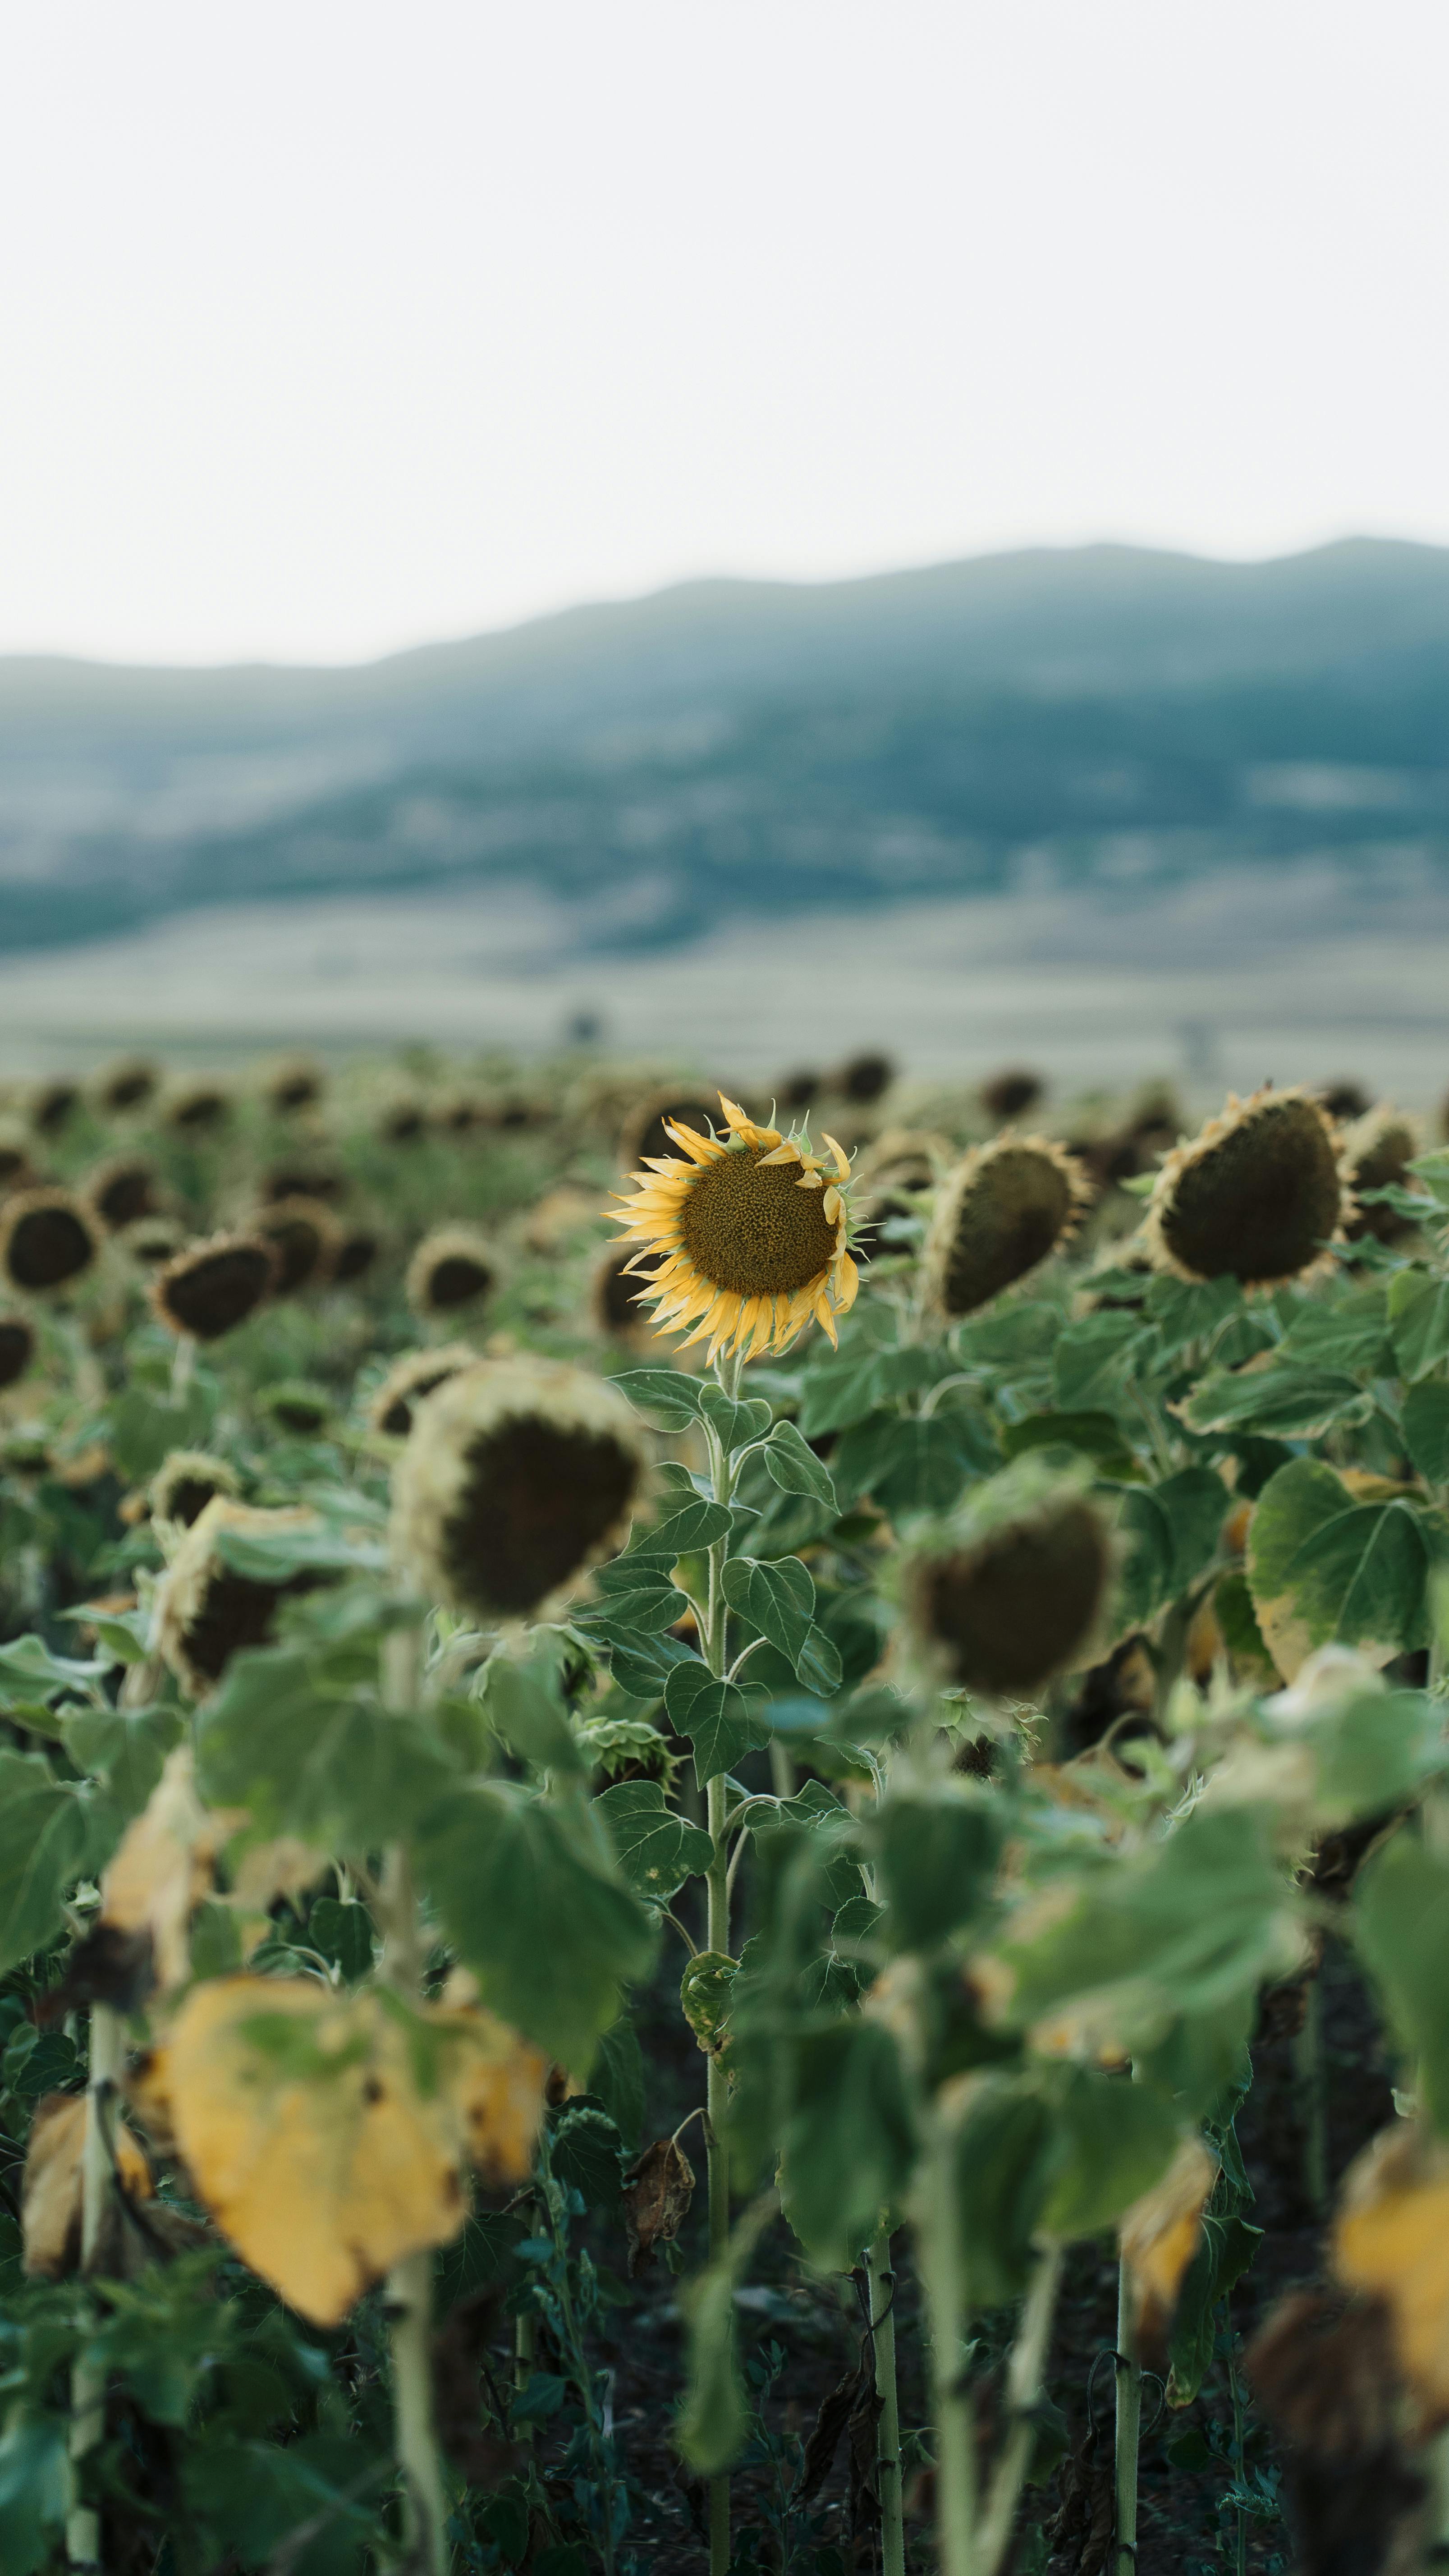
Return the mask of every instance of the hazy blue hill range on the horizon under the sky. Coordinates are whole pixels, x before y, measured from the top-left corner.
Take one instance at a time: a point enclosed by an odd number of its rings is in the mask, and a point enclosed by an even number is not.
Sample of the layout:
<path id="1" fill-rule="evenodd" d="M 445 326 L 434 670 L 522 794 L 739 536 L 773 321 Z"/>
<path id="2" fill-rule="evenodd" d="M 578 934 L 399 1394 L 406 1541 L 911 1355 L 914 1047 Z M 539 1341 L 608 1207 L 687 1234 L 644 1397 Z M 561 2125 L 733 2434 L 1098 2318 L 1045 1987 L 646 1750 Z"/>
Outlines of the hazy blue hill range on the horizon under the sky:
<path id="1" fill-rule="evenodd" d="M 0 659 L 0 948 L 499 881 L 579 953 L 811 912 L 1449 871 L 1449 551 L 690 582 L 358 670 Z M 1323 881 L 1323 878 L 1318 878 Z"/>

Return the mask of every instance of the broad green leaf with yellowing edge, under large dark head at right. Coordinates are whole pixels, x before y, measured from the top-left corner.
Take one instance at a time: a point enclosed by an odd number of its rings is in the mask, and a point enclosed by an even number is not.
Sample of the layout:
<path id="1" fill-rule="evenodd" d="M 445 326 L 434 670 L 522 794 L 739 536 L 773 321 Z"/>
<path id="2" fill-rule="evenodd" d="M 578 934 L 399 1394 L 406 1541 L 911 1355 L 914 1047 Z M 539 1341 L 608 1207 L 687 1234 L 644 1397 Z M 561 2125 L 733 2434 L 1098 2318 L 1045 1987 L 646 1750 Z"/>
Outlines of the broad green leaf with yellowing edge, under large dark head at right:
<path id="1" fill-rule="evenodd" d="M 1328 1641 L 1400 1654 L 1426 1641 L 1436 1525 L 1408 1502 L 1351 1502 L 1333 1468 L 1295 1458 L 1248 1528 L 1248 1589 L 1282 1672 Z"/>

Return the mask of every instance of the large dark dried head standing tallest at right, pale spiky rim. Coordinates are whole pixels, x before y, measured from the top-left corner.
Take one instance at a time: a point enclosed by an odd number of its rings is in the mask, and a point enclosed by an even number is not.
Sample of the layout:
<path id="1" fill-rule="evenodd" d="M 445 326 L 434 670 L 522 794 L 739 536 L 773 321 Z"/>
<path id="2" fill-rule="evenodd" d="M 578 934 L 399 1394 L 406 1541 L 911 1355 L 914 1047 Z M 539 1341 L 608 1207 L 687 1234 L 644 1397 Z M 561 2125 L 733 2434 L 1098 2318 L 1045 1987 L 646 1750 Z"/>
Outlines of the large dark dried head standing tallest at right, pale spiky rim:
<path id="1" fill-rule="evenodd" d="M 1163 1162 L 1143 1242 L 1181 1280 L 1235 1278 L 1277 1288 L 1331 1262 L 1354 1203 L 1338 1133 L 1307 1090 L 1228 1097 L 1192 1144 Z"/>

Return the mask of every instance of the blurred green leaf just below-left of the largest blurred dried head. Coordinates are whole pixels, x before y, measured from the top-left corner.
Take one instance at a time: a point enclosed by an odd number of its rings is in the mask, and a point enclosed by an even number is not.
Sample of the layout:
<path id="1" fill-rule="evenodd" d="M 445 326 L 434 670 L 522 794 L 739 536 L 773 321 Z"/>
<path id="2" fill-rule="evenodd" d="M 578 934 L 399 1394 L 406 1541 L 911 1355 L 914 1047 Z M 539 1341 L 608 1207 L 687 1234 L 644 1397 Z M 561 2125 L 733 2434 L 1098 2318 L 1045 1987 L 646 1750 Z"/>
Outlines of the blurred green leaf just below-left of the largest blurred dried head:
<path id="1" fill-rule="evenodd" d="M 304 1654 L 232 1656 L 196 1718 L 196 1772 L 214 1806 L 245 1806 L 252 1834 L 368 1852 L 407 1834 L 456 1777 L 422 1718 L 353 1692 L 327 1695 Z"/>

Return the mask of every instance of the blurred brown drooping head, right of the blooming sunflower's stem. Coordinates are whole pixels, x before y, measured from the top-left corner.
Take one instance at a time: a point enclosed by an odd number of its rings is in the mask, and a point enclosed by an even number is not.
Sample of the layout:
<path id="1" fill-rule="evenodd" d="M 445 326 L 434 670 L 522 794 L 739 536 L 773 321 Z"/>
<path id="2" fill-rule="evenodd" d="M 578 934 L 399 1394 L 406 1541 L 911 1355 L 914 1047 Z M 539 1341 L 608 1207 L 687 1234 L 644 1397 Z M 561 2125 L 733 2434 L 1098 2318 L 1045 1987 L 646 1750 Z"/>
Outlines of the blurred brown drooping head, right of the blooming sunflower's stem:
<path id="1" fill-rule="evenodd" d="M 1089 1659 L 1109 1579 L 1099 1512 L 1037 1461 L 981 1486 L 901 1569 L 927 1662 L 947 1687 L 996 1700 L 1035 1700 L 1053 1674 Z"/>

